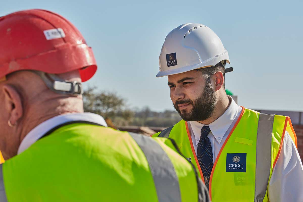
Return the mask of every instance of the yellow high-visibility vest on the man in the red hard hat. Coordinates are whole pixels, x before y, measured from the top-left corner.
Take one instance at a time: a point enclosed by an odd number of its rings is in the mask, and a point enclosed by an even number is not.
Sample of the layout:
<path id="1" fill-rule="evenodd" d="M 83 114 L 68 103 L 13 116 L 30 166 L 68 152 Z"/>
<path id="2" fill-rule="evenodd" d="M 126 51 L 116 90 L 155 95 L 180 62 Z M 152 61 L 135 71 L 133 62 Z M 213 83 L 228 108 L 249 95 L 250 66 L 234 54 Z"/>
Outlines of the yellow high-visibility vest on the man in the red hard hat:
<path id="1" fill-rule="evenodd" d="M 173 141 L 93 124 L 51 130 L 1 164 L 0 201 L 198 201 L 201 180 Z"/>

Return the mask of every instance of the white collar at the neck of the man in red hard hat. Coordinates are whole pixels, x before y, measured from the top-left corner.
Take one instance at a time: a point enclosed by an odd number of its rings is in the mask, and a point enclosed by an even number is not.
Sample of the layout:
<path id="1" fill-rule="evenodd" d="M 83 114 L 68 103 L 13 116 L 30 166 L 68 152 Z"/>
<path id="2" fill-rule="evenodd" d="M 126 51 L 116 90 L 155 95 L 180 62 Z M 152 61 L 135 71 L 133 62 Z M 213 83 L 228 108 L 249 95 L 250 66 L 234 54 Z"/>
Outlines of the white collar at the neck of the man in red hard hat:
<path id="1" fill-rule="evenodd" d="M 54 127 L 68 123 L 71 121 L 89 121 L 96 124 L 103 125 L 107 127 L 104 118 L 98 114 L 93 113 L 74 113 L 74 114 L 62 114 L 50 118 L 35 128 L 33 128 L 22 140 L 19 148 L 18 154 L 25 151 L 28 147 L 38 141 L 45 133 L 53 129 Z"/>

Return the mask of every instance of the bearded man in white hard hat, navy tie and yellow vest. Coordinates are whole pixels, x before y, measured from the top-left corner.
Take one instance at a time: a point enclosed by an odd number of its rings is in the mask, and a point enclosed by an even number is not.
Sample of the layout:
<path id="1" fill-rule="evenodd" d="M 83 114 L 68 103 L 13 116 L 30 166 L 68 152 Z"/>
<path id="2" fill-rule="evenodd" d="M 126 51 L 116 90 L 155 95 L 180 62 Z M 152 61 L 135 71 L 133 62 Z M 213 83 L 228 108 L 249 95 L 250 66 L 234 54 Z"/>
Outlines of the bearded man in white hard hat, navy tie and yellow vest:
<path id="1" fill-rule="evenodd" d="M 175 28 L 159 62 L 157 77 L 168 76 L 182 120 L 153 136 L 176 141 L 213 202 L 302 200 L 303 167 L 290 118 L 245 109 L 226 95 L 229 57 L 210 28 Z"/>

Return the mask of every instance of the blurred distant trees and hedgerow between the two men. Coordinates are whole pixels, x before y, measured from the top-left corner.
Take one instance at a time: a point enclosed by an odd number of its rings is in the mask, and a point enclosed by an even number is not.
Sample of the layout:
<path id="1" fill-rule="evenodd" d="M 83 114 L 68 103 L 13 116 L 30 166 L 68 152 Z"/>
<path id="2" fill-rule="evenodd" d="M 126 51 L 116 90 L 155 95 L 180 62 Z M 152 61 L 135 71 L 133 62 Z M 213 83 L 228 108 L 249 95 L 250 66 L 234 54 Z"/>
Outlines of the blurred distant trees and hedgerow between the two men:
<path id="1" fill-rule="evenodd" d="M 125 125 L 170 127 L 181 120 L 175 110 L 152 111 L 148 106 L 128 108 L 124 98 L 115 92 L 88 88 L 83 94 L 84 111 L 101 115 L 108 126 L 116 128 Z"/>

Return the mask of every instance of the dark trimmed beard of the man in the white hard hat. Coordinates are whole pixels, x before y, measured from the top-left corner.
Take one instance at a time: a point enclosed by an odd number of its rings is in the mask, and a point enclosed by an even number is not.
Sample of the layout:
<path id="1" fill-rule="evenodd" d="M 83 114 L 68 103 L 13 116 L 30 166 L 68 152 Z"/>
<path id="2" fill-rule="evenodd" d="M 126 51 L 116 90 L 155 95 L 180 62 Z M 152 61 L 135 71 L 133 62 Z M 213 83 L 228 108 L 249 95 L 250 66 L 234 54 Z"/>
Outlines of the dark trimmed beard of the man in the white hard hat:
<path id="1" fill-rule="evenodd" d="M 176 101 L 174 105 L 176 111 L 184 121 L 205 121 L 210 118 L 215 111 L 216 106 L 215 91 L 209 82 L 206 83 L 203 93 L 194 101 L 187 99 Z M 191 104 L 191 111 L 180 110 L 178 104 Z"/>

